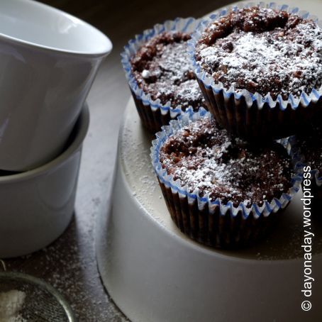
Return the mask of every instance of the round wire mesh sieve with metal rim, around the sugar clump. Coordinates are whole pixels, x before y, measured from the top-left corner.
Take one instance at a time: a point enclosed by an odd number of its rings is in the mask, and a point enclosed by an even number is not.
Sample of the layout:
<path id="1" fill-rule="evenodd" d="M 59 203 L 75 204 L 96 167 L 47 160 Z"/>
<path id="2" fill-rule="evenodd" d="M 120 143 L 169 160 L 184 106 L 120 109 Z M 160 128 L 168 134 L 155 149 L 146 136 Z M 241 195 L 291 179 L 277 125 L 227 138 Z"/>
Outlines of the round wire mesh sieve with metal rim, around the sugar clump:
<path id="1" fill-rule="evenodd" d="M 19 311 L 26 322 L 74 322 L 74 315 L 65 299 L 49 284 L 30 275 L 0 273 L 0 293 L 17 290 L 26 294 Z M 1 311 L 1 303 L 0 303 Z"/>

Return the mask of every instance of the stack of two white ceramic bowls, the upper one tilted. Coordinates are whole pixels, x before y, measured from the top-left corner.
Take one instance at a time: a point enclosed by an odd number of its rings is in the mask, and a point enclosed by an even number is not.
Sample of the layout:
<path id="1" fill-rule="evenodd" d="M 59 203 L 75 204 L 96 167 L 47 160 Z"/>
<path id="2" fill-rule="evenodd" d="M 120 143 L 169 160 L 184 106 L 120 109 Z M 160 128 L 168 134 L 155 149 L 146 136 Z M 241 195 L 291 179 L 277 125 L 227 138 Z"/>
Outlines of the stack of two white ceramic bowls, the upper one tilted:
<path id="1" fill-rule="evenodd" d="M 0 257 L 43 248 L 70 223 L 85 100 L 111 48 L 67 13 L 0 2 Z"/>

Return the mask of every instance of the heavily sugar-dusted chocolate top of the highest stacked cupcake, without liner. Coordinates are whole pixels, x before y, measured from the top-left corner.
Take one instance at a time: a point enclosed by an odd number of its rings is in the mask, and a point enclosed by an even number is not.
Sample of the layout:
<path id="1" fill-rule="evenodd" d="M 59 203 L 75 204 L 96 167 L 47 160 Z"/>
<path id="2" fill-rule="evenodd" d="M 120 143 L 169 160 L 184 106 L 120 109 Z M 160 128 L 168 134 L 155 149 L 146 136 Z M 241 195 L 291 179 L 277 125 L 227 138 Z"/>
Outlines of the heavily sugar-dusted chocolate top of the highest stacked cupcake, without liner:
<path id="1" fill-rule="evenodd" d="M 287 11 L 238 9 L 207 26 L 195 59 L 226 89 L 299 97 L 322 85 L 322 30 Z"/>

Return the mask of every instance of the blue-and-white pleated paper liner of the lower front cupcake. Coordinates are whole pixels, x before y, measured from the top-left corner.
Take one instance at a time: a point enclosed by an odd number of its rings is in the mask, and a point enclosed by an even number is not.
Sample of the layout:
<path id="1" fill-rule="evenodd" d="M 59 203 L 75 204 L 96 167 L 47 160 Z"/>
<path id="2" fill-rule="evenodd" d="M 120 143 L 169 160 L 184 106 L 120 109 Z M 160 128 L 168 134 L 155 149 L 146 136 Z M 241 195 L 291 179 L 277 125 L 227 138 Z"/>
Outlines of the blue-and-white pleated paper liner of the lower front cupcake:
<path id="1" fill-rule="evenodd" d="M 152 141 L 151 158 L 162 193 L 170 211 L 172 220 L 178 228 L 190 238 L 218 248 L 231 248 L 251 243 L 272 226 L 277 213 L 285 209 L 294 195 L 299 191 L 302 181 L 303 163 L 298 153 L 291 148 L 287 151 L 292 157 L 294 177 L 292 187 L 279 198 L 269 203 L 265 201 L 262 206 L 240 203 L 237 207 L 233 202 L 222 204 L 221 199 L 211 201 L 209 195 L 200 196 L 199 191 L 190 193 L 187 187 L 182 187 L 179 180 L 162 169 L 160 163 L 160 148 L 167 138 L 177 133 L 189 123 L 201 118 L 212 118 L 211 113 L 204 109 L 194 112 L 191 109 L 182 113 L 178 120 L 171 121 L 157 133 L 157 139 Z M 284 142 L 287 147 L 289 142 Z"/>

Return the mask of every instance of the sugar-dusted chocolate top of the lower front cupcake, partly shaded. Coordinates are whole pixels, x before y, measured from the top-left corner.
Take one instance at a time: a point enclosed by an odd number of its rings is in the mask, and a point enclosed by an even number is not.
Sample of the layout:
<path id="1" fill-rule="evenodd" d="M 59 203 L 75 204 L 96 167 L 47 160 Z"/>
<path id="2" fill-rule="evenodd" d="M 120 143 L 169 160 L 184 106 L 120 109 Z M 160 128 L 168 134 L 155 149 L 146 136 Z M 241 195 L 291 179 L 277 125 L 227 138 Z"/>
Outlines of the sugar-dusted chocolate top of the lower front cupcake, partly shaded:
<path id="1" fill-rule="evenodd" d="M 160 148 L 162 168 L 189 193 L 246 206 L 279 198 L 292 187 L 292 162 L 278 143 L 252 147 L 210 118 L 189 123 Z"/>

